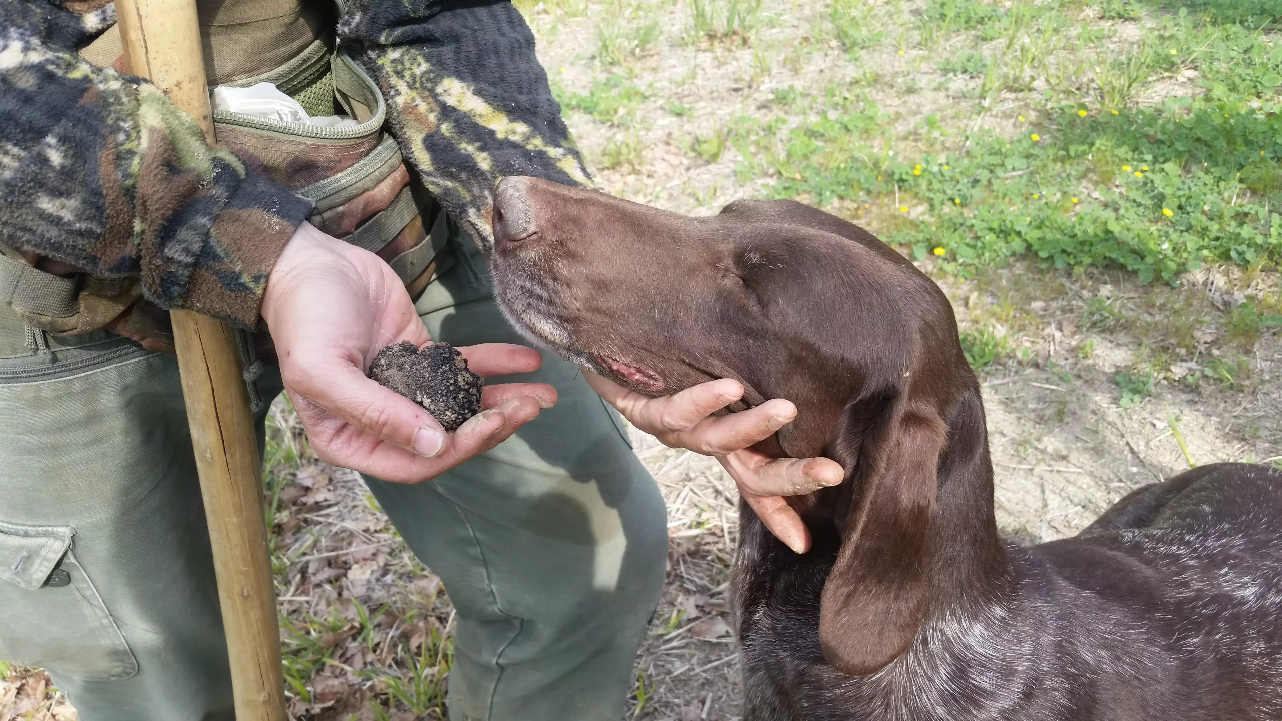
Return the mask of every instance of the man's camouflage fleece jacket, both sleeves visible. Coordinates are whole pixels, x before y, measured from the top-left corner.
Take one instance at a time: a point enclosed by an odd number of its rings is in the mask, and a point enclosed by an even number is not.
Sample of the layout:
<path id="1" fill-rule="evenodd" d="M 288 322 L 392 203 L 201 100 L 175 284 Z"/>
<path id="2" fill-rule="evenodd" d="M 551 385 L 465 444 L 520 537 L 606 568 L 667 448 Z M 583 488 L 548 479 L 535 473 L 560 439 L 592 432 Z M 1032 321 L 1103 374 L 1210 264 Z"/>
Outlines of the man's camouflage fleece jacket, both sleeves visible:
<path id="1" fill-rule="evenodd" d="M 0 0 L 0 242 L 251 326 L 312 205 L 206 145 L 146 81 L 76 55 L 113 22 L 108 0 Z M 382 87 L 405 158 L 482 245 L 499 177 L 588 182 L 510 3 L 355 0 L 338 41 Z"/>

